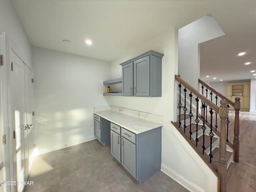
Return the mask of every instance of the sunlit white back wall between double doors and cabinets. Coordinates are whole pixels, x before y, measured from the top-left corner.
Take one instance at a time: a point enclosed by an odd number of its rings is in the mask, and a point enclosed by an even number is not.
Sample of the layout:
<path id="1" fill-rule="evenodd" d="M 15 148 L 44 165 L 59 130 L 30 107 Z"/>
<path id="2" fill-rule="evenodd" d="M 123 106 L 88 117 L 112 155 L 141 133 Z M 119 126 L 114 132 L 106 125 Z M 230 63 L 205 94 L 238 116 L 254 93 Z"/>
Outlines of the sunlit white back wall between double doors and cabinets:
<path id="1" fill-rule="evenodd" d="M 110 62 L 37 47 L 32 61 L 39 153 L 94 139 L 92 107 L 109 105 L 103 81 L 110 79 Z"/>

